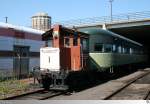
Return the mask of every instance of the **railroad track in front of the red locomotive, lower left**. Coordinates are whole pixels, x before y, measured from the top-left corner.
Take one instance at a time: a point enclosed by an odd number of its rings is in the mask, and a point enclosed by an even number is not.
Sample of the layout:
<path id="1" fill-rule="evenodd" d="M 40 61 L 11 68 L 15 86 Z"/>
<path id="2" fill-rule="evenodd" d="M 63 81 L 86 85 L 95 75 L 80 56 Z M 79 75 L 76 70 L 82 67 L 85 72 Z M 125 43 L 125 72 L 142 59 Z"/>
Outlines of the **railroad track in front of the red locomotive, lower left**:
<path id="1" fill-rule="evenodd" d="M 45 91 L 43 89 L 25 93 L 22 95 L 12 96 L 4 98 L 2 100 L 46 100 L 55 96 L 65 94 L 65 92 L 60 91 Z"/>

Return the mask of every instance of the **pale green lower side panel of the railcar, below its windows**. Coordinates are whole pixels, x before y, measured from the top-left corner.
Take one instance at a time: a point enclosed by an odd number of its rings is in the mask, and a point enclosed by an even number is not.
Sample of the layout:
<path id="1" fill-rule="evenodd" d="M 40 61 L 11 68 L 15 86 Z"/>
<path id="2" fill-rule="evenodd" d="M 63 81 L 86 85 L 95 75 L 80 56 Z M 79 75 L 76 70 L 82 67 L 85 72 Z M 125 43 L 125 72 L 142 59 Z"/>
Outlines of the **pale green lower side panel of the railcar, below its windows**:
<path id="1" fill-rule="evenodd" d="M 132 64 L 143 62 L 146 55 L 135 54 L 118 54 L 118 53 L 90 53 L 90 57 L 94 59 L 99 67 L 109 68 L 124 64 Z"/>

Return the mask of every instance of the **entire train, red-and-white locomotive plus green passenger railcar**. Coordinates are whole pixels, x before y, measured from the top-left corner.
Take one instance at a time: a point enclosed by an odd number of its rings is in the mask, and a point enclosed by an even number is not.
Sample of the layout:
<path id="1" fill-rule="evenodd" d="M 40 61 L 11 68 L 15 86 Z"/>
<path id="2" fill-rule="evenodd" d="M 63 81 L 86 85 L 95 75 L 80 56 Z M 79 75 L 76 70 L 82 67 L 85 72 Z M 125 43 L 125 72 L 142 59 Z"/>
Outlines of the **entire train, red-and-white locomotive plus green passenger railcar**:
<path id="1" fill-rule="evenodd" d="M 103 29 L 55 25 L 42 40 L 40 79 L 45 89 L 68 89 L 68 82 L 79 84 L 83 73 L 88 73 L 84 82 L 92 71 L 113 72 L 116 66 L 146 61 L 142 44 Z"/>

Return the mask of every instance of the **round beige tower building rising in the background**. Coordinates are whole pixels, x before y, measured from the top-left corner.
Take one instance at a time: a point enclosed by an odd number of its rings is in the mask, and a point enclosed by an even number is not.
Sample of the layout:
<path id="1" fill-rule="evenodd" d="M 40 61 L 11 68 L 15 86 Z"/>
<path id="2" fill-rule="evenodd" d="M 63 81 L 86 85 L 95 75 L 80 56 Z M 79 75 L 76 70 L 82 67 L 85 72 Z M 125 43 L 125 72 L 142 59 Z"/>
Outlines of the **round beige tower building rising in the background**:
<path id="1" fill-rule="evenodd" d="M 51 28 L 51 17 L 47 13 L 37 13 L 32 16 L 32 28 L 47 31 Z"/>

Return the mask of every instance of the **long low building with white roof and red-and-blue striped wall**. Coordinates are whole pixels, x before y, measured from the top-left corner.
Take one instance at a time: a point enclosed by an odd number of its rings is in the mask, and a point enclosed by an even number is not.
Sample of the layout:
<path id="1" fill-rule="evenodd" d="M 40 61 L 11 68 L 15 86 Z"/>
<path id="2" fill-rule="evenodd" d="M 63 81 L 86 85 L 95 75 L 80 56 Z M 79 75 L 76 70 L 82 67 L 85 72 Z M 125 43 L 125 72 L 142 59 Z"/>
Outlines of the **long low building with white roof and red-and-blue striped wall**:
<path id="1" fill-rule="evenodd" d="M 26 75 L 39 66 L 44 31 L 0 22 L 0 72 Z"/>

